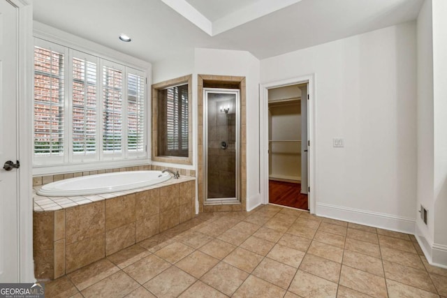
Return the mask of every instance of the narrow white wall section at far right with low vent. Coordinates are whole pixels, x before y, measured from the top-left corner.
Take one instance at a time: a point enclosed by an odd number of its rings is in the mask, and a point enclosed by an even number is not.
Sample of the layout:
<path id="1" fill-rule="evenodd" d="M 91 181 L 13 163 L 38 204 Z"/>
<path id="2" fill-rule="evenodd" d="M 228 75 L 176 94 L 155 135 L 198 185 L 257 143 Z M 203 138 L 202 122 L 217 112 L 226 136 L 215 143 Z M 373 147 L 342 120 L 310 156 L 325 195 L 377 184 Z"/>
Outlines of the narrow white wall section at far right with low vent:
<path id="1" fill-rule="evenodd" d="M 430 251 L 434 234 L 433 202 L 433 38 L 432 1 L 425 1 L 417 20 L 418 36 L 418 183 L 417 204 L 428 209 L 427 225 L 416 216 L 416 234 Z"/>

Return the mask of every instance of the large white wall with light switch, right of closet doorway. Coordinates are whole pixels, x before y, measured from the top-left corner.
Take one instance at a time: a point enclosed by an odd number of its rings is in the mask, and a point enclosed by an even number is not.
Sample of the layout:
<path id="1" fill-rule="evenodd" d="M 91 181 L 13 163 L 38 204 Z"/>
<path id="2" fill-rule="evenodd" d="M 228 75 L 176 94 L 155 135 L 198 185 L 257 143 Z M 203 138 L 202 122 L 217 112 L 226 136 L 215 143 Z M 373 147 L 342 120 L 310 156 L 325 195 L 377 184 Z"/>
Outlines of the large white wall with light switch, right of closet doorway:
<path id="1" fill-rule="evenodd" d="M 416 23 L 261 61 L 266 84 L 312 73 L 316 213 L 414 232 Z"/>

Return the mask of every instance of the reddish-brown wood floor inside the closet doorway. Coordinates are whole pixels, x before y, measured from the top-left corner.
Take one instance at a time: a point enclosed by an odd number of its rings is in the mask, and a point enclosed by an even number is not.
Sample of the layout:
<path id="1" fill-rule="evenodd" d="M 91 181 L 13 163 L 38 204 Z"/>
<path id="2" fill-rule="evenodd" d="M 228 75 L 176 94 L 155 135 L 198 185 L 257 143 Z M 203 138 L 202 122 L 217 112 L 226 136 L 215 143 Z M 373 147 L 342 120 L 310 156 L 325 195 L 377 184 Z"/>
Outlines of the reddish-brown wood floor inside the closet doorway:
<path id="1" fill-rule="evenodd" d="M 301 184 L 269 181 L 269 202 L 282 206 L 308 210 L 307 195 L 300 193 Z"/>

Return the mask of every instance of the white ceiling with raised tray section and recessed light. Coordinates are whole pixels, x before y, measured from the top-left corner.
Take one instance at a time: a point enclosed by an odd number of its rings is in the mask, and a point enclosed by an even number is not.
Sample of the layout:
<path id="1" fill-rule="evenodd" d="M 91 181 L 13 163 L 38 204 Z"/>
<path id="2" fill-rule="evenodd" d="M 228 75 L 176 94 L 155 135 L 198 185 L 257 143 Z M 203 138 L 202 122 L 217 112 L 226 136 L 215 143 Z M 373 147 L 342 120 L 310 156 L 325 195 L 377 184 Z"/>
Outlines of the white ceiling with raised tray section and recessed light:
<path id="1" fill-rule="evenodd" d="M 423 0 L 38 0 L 34 20 L 156 62 L 195 47 L 277 56 L 415 20 Z M 131 36 L 131 43 L 118 39 Z"/>

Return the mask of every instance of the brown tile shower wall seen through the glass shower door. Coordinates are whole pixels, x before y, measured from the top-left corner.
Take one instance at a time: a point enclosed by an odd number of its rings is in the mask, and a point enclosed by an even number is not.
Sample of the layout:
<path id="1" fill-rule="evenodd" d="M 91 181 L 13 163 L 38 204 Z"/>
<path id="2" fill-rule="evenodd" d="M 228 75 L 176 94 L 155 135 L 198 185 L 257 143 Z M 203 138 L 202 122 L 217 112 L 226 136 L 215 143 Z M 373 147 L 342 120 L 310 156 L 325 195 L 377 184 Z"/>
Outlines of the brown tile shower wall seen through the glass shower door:
<path id="1" fill-rule="evenodd" d="M 221 106 L 235 106 L 234 100 L 208 102 L 208 198 L 235 198 L 235 111 L 228 114 Z M 228 144 L 221 148 L 221 142 Z"/>

